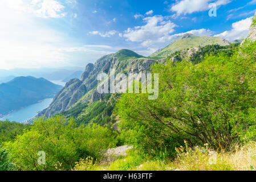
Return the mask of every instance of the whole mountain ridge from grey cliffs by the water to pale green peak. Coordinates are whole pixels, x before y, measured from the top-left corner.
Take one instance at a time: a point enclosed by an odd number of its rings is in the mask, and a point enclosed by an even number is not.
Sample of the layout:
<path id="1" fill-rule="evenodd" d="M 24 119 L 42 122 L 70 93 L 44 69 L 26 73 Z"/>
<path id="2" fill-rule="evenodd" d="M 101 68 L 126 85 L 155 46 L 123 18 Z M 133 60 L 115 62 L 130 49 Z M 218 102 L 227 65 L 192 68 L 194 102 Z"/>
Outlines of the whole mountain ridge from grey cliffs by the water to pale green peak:
<path id="1" fill-rule="evenodd" d="M 67 82 L 66 86 L 54 97 L 51 105 L 41 111 L 38 116 L 52 115 L 70 110 L 76 106 L 94 103 L 102 100 L 106 94 L 99 94 L 96 90 L 98 81 L 97 75 L 106 73 L 108 76 L 117 73 L 140 73 L 150 72 L 151 65 L 161 61 L 164 63 L 166 59 L 188 59 L 201 48 L 208 45 L 217 45 L 217 49 L 227 49 L 230 43 L 219 37 L 196 36 L 193 34 L 185 34 L 175 40 L 169 46 L 153 53 L 151 56 L 145 57 L 128 49 L 121 49 L 116 53 L 105 55 L 96 61 L 95 64 L 88 64 L 80 80 L 74 78 Z M 172 57 L 168 57 L 172 56 Z M 115 69 L 115 73 L 111 70 Z"/>

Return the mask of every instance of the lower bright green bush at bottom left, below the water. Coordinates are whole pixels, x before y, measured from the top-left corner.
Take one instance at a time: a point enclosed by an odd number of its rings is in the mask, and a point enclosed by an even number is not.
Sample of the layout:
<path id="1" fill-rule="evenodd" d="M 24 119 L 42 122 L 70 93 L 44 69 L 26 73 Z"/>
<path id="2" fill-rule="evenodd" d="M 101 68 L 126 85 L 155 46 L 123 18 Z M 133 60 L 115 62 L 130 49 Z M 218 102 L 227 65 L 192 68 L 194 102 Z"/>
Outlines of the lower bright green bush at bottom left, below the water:
<path id="1" fill-rule="evenodd" d="M 115 147 L 116 140 L 111 130 L 98 125 L 76 127 L 74 119 L 56 115 L 36 119 L 30 131 L 5 145 L 19 170 L 68 170 L 80 159 L 100 158 L 107 148 Z M 39 151 L 46 154 L 45 165 L 38 164 Z"/>

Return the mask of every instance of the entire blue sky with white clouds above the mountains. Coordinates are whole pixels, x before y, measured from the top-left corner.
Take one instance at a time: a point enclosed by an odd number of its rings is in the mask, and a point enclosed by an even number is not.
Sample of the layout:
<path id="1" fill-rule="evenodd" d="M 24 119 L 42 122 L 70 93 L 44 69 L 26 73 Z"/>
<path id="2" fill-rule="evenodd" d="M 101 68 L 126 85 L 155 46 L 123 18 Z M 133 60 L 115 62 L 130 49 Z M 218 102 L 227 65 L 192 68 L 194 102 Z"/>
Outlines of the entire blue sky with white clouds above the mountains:
<path id="1" fill-rule="evenodd" d="M 148 56 L 186 32 L 232 41 L 255 11 L 256 0 L 1 0 L 0 69 L 85 67 L 123 48 Z"/>

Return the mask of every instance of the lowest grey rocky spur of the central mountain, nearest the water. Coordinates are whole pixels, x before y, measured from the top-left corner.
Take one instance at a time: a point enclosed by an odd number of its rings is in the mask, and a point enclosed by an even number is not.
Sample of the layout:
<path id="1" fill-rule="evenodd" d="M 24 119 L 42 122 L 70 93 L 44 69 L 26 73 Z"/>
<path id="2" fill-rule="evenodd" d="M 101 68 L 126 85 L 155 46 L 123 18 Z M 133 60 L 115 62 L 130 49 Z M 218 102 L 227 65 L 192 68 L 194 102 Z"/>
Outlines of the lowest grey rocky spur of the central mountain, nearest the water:
<path id="1" fill-rule="evenodd" d="M 67 82 L 62 90 L 54 97 L 51 105 L 38 114 L 38 117 L 46 115 L 50 117 L 59 114 L 61 111 L 67 110 L 74 105 L 81 97 L 86 94 L 86 86 L 78 78 L 74 78 Z"/>

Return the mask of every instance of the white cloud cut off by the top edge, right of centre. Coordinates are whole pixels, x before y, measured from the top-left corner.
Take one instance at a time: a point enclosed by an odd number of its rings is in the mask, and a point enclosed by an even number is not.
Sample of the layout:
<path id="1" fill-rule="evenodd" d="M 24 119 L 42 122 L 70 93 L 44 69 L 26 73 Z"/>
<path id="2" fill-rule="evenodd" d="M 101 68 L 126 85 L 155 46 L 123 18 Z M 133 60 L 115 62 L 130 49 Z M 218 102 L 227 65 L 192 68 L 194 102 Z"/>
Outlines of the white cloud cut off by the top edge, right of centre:
<path id="1" fill-rule="evenodd" d="M 209 3 L 214 2 L 217 6 L 226 5 L 232 0 L 182 0 L 178 1 L 175 5 L 171 7 L 170 10 L 180 14 L 192 14 L 194 12 L 209 10 Z"/>

